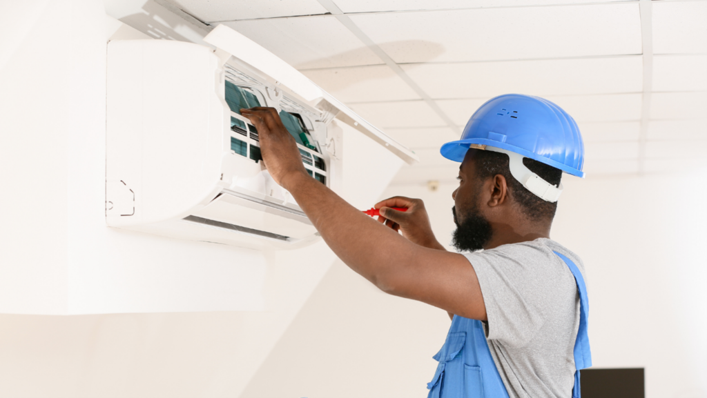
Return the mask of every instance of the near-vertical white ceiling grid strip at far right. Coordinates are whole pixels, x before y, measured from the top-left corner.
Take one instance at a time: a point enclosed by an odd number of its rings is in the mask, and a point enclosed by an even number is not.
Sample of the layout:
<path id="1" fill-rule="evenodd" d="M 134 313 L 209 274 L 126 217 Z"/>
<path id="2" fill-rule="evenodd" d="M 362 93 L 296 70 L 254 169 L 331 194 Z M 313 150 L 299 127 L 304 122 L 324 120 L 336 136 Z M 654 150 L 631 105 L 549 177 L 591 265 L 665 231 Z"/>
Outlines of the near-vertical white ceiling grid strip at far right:
<path id="1" fill-rule="evenodd" d="M 653 91 L 653 4 L 641 0 L 641 40 L 643 42 L 643 94 L 641 95 L 641 129 L 638 133 L 638 173 L 645 171 L 645 142 L 648 137 L 650 101 Z"/>

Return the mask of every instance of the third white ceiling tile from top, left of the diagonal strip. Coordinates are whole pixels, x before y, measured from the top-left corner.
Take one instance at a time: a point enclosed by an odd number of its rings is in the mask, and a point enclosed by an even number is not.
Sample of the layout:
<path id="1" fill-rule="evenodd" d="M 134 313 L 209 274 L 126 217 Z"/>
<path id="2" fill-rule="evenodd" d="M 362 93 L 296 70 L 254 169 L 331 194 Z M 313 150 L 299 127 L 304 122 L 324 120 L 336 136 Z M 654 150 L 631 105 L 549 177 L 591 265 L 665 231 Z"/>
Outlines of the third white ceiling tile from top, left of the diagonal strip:
<path id="1" fill-rule="evenodd" d="M 302 73 L 344 103 L 421 99 L 387 65 L 314 69 Z"/>

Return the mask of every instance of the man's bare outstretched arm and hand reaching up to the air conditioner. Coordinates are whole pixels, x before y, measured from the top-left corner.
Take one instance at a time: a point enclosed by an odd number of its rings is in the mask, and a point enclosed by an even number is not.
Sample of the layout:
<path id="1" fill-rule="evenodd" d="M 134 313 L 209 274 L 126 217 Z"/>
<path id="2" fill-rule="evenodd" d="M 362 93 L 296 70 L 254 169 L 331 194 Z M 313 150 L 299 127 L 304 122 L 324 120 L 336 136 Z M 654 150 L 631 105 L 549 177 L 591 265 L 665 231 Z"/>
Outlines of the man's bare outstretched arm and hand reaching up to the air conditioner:
<path id="1" fill-rule="evenodd" d="M 241 112 L 258 129 L 270 175 L 292 194 L 346 265 L 387 293 L 486 320 L 479 281 L 466 257 L 414 244 L 310 177 L 293 137 L 274 108 Z"/>

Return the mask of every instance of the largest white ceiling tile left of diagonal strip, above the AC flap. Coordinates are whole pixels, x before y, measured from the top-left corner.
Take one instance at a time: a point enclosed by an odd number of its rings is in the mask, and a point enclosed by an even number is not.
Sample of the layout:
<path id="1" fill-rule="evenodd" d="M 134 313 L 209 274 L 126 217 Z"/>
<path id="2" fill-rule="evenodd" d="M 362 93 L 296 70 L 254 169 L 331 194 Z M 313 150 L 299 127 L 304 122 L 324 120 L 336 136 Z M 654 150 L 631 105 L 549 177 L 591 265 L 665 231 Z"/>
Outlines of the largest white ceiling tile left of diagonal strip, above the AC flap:
<path id="1" fill-rule="evenodd" d="M 382 64 L 332 16 L 227 22 L 298 69 Z"/>

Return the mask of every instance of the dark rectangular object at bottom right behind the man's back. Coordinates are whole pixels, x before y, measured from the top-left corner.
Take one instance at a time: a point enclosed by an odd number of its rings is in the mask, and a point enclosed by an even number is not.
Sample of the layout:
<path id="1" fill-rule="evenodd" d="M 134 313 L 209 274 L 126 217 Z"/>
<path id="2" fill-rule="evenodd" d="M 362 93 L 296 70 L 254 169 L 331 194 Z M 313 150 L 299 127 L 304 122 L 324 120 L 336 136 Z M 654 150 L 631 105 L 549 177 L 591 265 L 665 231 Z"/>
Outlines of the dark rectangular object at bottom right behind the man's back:
<path id="1" fill-rule="evenodd" d="M 582 398 L 645 398 L 643 368 L 585 369 L 580 375 Z"/>

